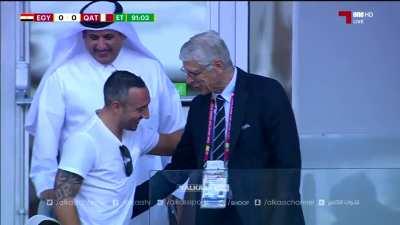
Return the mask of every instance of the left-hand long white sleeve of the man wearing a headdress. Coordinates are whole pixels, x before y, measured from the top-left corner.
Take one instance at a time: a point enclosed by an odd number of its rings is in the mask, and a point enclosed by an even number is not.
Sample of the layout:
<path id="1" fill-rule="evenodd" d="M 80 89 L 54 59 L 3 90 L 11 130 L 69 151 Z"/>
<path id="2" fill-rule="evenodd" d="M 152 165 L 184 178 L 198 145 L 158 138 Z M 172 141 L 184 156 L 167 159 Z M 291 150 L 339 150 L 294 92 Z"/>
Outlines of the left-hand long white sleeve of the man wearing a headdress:
<path id="1" fill-rule="evenodd" d="M 38 98 L 37 127 L 32 150 L 30 176 L 36 193 L 54 187 L 61 129 L 65 117 L 63 89 L 53 74 L 44 81 Z"/>

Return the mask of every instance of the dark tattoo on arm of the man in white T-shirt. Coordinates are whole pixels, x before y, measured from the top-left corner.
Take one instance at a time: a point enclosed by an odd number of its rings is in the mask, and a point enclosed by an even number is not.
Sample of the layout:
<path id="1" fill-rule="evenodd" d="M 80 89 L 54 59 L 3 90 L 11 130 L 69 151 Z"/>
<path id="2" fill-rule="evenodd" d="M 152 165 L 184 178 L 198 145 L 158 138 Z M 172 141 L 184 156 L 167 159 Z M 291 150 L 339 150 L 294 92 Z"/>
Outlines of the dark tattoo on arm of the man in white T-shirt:
<path id="1" fill-rule="evenodd" d="M 78 174 L 59 169 L 56 175 L 56 201 L 73 198 L 78 194 L 83 178 Z"/>

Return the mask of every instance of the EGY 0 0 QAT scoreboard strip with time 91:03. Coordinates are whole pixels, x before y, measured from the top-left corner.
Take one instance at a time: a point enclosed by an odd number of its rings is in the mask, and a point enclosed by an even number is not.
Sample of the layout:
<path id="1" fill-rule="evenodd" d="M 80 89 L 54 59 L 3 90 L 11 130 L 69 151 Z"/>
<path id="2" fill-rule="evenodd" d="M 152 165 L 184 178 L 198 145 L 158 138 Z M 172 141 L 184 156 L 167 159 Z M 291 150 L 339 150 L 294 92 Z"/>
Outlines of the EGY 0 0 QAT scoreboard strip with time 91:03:
<path id="1" fill-rule="evenodd" d="M 21 13 L 20 21 L 32 22 L 154 22 L 154 13 Z"/>

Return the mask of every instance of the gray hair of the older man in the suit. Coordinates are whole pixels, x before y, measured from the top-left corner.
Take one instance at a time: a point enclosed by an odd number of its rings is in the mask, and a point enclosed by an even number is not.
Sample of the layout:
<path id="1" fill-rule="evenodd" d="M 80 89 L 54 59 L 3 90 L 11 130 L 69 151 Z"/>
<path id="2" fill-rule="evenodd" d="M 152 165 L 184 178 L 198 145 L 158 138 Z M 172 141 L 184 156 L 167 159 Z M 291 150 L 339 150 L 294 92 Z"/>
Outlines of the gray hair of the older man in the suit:
<path id="1" fill-rule="evenodd" d="M 191 37 L 183 44 L 179 53 L 183 62 L 196 61 L 200 65 L 208 65 L 215 59 L 220 59 L 225 66 L 233 67 L 229 50 L 224 40 L 217 32 L 210 30 Z"/>

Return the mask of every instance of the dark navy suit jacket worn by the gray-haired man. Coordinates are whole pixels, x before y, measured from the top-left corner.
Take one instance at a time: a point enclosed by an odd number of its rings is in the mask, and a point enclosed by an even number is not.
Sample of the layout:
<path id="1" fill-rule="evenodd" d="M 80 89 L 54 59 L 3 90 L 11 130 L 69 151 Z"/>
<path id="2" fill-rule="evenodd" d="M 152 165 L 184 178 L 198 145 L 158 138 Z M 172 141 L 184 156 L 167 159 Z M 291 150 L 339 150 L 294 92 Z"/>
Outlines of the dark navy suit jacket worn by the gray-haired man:
<path id="1" fill-rule="evenodd" d="M 300 148 L 293 111 L 282 86 L 275 80 L 248 74 L 237 68 L 228 163 L 231 200 L 249 201 L 250 205 L 235 206 L 223 215 L 235 218 L 230 224 L 303 225 L 300 200 Z M 202 169 L 206 144 L 208 109 L 211 94 L 196 96 L 189 109 L 187 124 L 172 161 L 165 170 Z M 137 168 L 140 169 L 140 168 Z M 188 174 L 159 173 L 136 189 L 135 201 L 148 199 L 152 204 L 173 192 L 185 182 Z M 149 192 L 149 182 L 151 192 Z M 193 183 L 200 180 L 193 181 Z M 266 206 L 255 206 L 261 199 Z M 280 204 L 277 200 L 280 200 Z M 292 201 L 283 204 L 282 201 Z M 134 206 L 133 216 L 148 208 Z M 208 213 L 208 214 L 207 214 Z M 196 224 L 207 221 L 202 210 Z M 229 224 L 229 223 L 227 223 Z"/>

